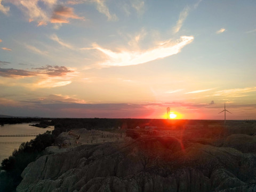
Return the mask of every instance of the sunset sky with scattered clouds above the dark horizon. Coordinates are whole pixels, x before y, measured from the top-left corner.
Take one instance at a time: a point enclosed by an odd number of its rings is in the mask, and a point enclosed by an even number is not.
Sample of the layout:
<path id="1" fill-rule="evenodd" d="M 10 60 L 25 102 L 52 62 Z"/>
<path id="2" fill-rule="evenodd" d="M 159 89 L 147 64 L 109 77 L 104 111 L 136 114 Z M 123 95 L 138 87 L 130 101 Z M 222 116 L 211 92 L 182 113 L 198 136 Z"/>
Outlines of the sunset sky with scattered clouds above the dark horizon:
<path id="1" fill-rule="evenodd" d="M 256 119 L 256 1 L 0 0 L 0 114 Z"/>

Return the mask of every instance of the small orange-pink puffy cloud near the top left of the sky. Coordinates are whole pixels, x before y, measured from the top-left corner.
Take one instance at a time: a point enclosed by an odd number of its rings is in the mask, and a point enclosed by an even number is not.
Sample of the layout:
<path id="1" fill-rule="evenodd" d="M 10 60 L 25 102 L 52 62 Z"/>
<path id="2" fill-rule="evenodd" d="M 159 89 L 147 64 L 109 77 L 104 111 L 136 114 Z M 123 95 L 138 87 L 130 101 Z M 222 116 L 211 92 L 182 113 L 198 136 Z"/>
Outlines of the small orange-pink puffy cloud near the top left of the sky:
<path id="1" fill-rule="evenodd" d="M 56 5 L 51 17 L 51 23 L 69 23 L 68 19 L 84 20 L 84 17 L 78 17 L 71 7 Z"/>

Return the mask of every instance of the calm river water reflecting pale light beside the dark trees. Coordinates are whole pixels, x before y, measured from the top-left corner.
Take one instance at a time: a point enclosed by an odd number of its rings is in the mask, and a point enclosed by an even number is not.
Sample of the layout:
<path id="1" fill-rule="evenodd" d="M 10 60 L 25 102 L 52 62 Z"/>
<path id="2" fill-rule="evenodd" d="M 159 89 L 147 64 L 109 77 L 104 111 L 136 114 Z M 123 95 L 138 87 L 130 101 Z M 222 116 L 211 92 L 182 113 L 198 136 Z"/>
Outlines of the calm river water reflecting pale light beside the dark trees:
<path id="1" fill-rule="evenodd" d="M 0 135 L 13 135 L 13 134 L 29 134 L 29 133 L 45 133 L 52 131 L 52 127 L 46 129 L 29 126 L 29 124 L 36 124 L 38 122 L 21 123 L 21 124 L 5 124 L 0 126 Z M 14 149 L 18 149 L 22 142 L 30 141 L 35 137 L 0 137 L 0 163 L 4 158 L 12 155 Z"/>

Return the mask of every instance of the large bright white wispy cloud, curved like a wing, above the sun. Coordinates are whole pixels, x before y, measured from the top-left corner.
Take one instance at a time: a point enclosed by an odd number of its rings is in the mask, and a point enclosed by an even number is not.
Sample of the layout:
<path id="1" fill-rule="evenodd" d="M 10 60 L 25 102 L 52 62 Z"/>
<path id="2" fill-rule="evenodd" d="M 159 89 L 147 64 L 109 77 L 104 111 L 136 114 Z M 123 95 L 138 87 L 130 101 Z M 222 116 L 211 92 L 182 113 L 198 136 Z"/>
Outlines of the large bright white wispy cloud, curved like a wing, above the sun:
<path id="1" fill-rule="evenodd" d="M 179 41 L 173 43 L 167 41 L 163 44 L 158 43 L 158 45 L 151 50 L 146 51 L 121 51 L 114 52 L 108 49 L 104 49 L 99 45 L 95 44 L 94 49 L 97 49 L 109 57 L 108 60 L 101 63 L 101 66 L 130 66 L 138 65 L 141 63 L 146 63 L 156 59 L 161 59 L 169 57 L 171 55 L 177 54 L 181 49 L 193 41 L 193 36 L 182 36 Z"/>

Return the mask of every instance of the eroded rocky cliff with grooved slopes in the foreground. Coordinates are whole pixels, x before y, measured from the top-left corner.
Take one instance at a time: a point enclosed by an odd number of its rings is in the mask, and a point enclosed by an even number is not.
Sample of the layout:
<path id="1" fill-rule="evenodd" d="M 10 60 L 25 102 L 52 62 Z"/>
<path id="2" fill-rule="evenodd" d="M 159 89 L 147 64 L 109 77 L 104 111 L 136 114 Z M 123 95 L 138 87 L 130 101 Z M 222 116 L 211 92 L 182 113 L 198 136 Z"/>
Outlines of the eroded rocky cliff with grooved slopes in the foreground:
<path id="1" fill-rule="evenodd" d="M 175 137 L 82 145 L 30 163 L 17 191 L 256 191 L 255 149 L 244 134 L 221 146 Z"/>

